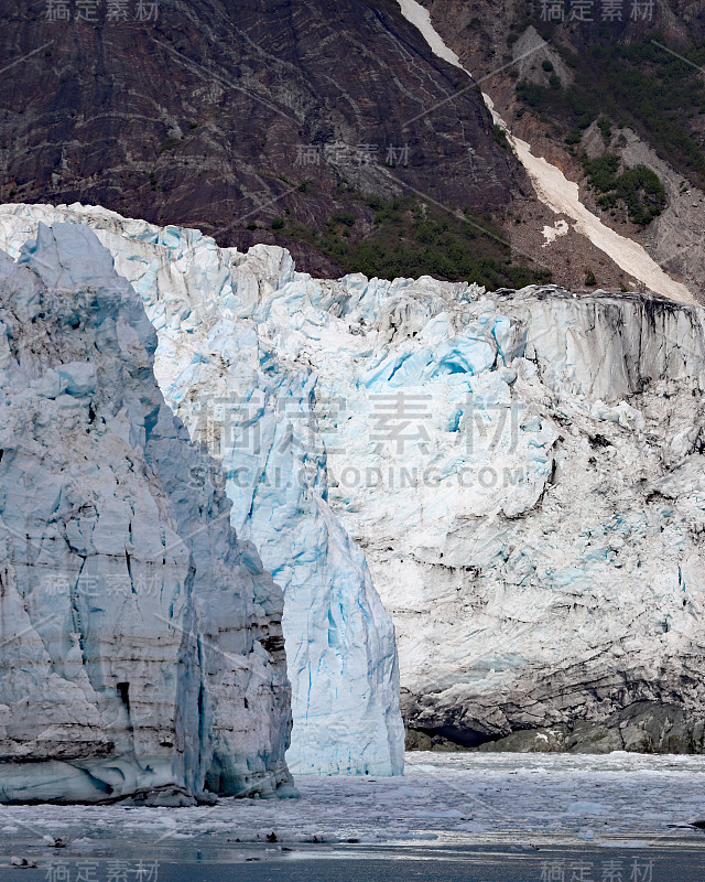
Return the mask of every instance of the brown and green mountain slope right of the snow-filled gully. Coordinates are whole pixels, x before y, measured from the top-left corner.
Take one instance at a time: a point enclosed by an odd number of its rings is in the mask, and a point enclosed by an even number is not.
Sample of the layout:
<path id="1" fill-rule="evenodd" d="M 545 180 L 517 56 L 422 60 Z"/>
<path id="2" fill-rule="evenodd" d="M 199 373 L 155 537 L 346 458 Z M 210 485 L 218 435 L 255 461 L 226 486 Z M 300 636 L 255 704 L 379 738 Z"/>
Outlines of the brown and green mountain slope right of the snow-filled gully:
<path id="1" fill-rule="evenodd" d="M 502 0 L 491 8 L 470 0 L 423 0 L 423 6 L 465 67 L 484 79 L 513 135 L 577 183 L 583 202 L 604 224 L 643 244 L 702 301 L 702 4 L 663 0 L 652 14 L 633 20 L 633 4 L 625 2 L 618 4 L 621 20 L 604 21 L 603 4 L 595 3 L 590 22 L 571 20 L 567 4 L 563 21 L 544 21 L 542 6 L 531 0 Z M 615 186 L 596 186 L 586 161 L 606 155 L 616 157 L 619 173 L 648 169 L 663 191 L 654 196 L 658 185 L 654 192 L 637 186 L 620 194 Z M 583 249 L 571 232 L 543 258 L 554 278 L 570 280 Z M 583 270 L 589 266 L 581 263 Z M 597 283 L 609 287 L 605 269 L 592 269 Z"/>

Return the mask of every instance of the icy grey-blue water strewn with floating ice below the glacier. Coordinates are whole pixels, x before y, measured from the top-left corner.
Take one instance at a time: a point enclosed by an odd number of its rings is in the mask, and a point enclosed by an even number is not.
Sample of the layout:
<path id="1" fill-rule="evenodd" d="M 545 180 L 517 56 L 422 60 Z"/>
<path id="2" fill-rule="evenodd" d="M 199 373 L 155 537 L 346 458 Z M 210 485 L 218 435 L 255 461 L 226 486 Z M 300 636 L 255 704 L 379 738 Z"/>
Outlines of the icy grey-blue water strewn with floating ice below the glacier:
<path id="1" fill-rule="evenodd" d="M 296 786 L 198 808 L 0 807 L 0 882 L 705 880 L 705 757 L 411 753 L 403 777 Z"/>

